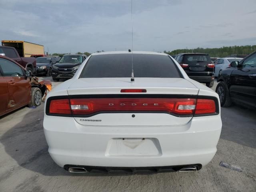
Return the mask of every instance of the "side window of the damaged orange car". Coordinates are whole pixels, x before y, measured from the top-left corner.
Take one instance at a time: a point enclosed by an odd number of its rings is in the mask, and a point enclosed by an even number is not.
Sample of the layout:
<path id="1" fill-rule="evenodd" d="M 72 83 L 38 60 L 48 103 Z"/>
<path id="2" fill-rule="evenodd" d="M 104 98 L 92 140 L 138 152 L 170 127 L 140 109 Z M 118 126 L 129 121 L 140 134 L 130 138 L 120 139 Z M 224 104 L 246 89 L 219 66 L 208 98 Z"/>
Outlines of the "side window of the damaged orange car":
<path id="1" fill-rule="evenodd" d="M 3 76 L 23 76 L 23 70 L 20 66 L 7 59 L 0 58 L 0 68 Z"/>

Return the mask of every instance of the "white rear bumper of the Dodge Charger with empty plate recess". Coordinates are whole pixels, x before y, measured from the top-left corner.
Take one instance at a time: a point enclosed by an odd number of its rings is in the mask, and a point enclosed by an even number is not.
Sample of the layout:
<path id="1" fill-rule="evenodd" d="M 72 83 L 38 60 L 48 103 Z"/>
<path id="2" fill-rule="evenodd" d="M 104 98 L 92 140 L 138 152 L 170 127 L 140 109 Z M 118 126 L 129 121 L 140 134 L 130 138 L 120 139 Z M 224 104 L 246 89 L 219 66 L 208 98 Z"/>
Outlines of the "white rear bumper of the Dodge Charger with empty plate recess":
<path id="1" fill-rule="evenodd" d="M 220 114 L 194 117 L 180 126 L 84 126 L 72 117 L 44 116 L 48 151 L 61 167 L 204 166 L 216 153 L 221 127 Z M 143 146 L 138 144 L 129 148 L 128 155 L 118 154 L 118 147 L 112 153 L 116 138 L 150 138 L 158 152 L 139 154 L 136 148 Z"/>

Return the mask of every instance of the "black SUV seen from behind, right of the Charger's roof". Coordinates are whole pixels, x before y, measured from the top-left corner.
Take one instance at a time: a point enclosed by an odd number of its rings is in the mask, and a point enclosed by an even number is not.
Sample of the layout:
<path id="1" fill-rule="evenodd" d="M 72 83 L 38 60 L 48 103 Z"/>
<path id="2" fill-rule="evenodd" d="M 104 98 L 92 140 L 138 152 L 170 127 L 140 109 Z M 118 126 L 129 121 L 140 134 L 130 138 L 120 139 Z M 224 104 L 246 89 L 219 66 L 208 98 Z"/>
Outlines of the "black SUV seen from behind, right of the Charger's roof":
<path id="1" fill-rule="evenodd" d="M 214 64 L 208 54 L 204 53 L 181 53 L 175 60 L 182 66 L 189 78 L 206 86 L 214 84 Z"/>

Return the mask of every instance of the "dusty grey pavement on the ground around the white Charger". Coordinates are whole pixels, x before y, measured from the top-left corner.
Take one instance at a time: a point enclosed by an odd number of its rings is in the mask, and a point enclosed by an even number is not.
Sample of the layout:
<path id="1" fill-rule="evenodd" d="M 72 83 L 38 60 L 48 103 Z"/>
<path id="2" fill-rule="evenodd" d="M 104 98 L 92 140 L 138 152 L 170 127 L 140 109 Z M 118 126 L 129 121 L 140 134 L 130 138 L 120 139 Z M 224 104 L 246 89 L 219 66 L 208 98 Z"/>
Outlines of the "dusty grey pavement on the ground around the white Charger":
<path id="1" fill-rule="evenodd" d="M 53 87 L 59 83 L 53 82 Z M 24 107 L 0 118 L 0 192 L 256 191 L 255 110 L 221 108 L 223 126 L 218 151 L 198 172 L 71 174 L 48 154 L 43 108 Z M 221 167 L 221 161 L 243 171 Z"/>

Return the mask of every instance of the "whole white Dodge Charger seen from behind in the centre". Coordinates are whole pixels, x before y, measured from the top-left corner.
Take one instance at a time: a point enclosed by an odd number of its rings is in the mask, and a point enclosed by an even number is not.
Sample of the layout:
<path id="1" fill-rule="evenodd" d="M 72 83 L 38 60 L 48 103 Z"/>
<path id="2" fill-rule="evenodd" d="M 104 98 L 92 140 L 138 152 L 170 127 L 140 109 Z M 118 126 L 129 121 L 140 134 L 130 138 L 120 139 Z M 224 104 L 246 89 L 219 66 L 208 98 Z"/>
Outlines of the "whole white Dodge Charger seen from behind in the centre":
<path id="1" fill-rule="evenodd" d="M 48 151 L 69 172 L 200 170 L 221 128 L 218 94 L 155 52 L 92 54 L 44 108 Z"/>

